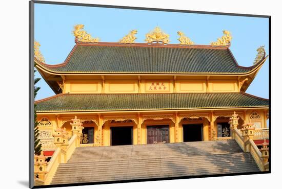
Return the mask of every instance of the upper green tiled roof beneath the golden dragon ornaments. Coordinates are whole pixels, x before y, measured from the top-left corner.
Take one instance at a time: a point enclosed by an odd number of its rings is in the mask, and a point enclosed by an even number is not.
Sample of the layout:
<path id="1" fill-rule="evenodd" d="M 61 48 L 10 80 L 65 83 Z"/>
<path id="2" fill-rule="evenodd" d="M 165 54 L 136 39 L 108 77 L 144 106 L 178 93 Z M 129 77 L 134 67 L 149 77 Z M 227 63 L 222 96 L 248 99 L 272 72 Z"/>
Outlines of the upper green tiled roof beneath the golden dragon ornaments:
<path id="1" fill-rule="evenodd" d="M 48 66 L 56 73 L 247 73 L 229 49 L 134 45 L 77 45 L 66 64 Z"/>

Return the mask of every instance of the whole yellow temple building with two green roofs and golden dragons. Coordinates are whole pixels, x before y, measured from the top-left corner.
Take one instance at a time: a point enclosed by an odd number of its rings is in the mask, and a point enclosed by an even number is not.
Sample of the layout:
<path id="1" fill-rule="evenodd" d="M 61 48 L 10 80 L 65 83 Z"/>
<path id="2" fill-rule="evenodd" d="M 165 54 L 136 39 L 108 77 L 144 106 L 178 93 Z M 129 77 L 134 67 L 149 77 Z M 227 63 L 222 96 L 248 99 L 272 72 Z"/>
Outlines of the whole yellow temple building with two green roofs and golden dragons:
<path id="1" fill-rule="evenodd" d="M 267 59 L 263 46 L 244 67 L 229 49 L 228 31 L 198 45 L 180 31 L 180 43 L 170 44 L 158 27 L 144 43 L 135 42 L 136 30 L 119 42 L 100 42 L 83 28 L 75 26 L 75 45 L 63 63 L 46 64 L 35 53 L 36 69 L 56 93 L 35 102 L 45 156 L 58 147 L 56 132 L 71 138 L 78 119 L 79 147 L 232 139 L 234 112 L 238 130 L 249 123 L 254 143 L 268 142 L 269 100 L 245 92 Z"/>

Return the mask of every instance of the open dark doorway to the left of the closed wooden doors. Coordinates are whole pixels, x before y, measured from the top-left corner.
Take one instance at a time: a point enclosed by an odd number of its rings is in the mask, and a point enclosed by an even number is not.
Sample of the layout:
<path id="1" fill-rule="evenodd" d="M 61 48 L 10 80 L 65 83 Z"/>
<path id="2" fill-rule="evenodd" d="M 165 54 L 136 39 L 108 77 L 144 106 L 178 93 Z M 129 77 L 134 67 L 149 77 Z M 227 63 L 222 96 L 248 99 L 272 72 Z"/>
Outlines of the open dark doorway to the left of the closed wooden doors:
<path id="1" fill-rule="evenodd" d="M 111 127 L 111 146 L 132 145 L 132 127 Z"/>

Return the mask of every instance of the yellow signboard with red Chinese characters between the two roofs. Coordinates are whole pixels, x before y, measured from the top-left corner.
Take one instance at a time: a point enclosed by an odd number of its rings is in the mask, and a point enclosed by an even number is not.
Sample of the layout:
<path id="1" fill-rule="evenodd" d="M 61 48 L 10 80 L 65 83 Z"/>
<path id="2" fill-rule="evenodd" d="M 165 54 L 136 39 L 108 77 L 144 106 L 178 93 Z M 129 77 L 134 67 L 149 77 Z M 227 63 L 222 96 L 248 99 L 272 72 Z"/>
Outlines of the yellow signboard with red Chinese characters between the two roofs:
<path id="1" fill-rule="evenodd" d="M 146 81 L 145 92 L 170 92 L 170 82 L 168 80 Z"/>

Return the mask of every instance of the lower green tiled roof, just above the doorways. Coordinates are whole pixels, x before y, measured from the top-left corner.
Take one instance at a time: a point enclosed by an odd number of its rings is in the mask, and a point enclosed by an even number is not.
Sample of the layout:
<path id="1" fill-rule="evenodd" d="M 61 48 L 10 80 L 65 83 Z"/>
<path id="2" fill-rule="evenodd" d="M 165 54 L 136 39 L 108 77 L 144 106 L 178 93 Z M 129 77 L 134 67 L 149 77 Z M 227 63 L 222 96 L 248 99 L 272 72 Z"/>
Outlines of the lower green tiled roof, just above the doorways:
<path id="1" fill-rule="evenodd" d="M 269 101 L 243 92 L 64 94 L 36 102 L 37 112 L 176 110 L 267 107 Z"/>

